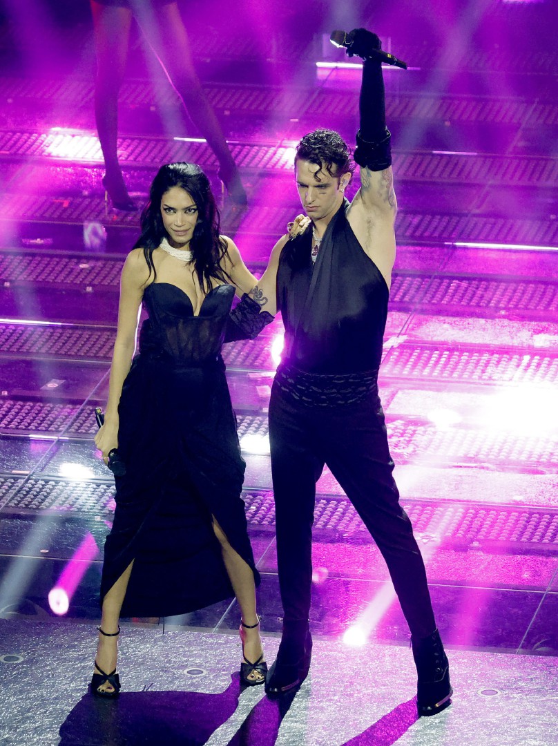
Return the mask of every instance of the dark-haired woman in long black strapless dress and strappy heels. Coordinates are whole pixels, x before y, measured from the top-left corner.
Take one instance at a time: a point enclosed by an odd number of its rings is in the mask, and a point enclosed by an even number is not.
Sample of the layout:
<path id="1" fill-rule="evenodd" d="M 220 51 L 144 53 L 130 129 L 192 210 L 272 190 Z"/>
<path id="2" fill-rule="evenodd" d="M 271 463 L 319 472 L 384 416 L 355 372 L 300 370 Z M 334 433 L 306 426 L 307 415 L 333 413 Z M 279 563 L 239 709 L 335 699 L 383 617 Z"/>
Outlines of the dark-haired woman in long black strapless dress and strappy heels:
<path id="1" fill-rule="evenodd" d="M 260 684 L 259 575 L 220 354 L 235 290 L 249 292 L 257 280 L 219 235 L 210 183 L 195 164 L 160 169 L 141 227 L 122 269 L 107 410 L 95 438 L 105 462 L 118 448 L 126 473 L 115 477 L 91 690 L 118 693 L 120 615 L 183 614 L 233 593 L 242 612 L 241 677 Z M 148 319 L 132 360 L 141 304 Z"/>

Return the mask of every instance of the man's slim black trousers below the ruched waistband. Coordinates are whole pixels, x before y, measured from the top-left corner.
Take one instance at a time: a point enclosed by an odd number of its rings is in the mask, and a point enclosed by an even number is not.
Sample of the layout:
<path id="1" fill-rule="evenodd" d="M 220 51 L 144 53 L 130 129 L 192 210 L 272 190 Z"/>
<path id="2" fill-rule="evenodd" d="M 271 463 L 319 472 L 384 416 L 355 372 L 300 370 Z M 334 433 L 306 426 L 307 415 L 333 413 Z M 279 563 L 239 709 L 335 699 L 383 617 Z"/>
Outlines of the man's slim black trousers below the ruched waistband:
<path id="1" fill-rule="evenodd" d="M 327 464 L 386 560 L 411 633 L 432 633 L 424 562 L 399 504 L 377 389 L 354 404 L 323 407 L 296 401 L 275 382 L 269 441 L 285 620 L 309 618 L 316 481 Z"/>

